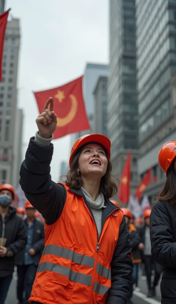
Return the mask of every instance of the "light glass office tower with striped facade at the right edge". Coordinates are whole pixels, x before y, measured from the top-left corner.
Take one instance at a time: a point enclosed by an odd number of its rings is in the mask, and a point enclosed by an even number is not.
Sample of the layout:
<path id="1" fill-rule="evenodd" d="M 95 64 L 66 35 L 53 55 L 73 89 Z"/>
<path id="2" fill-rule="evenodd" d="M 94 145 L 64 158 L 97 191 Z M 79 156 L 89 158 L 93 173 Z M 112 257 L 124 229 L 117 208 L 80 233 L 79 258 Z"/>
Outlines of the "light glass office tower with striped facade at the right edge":
<path id="1" fill-rule="evenodd" d="M 139 91 L 139 174 L 153 167 L 157 182 L 146 194 L 153 200 L 165 176 L 157 162 L 160 147 L 176 139 L 172 75 L 176 73 L 176 2 L 136 0 Z M 174 95 L 175 96 L 175 95 Z"/>

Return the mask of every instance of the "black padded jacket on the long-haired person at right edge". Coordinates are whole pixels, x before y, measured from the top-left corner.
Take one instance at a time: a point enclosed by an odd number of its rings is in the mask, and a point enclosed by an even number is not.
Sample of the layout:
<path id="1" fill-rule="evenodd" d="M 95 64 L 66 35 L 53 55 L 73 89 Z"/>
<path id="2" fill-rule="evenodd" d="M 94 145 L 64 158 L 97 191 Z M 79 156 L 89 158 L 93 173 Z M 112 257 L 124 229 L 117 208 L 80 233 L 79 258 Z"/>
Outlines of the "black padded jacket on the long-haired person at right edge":
<path id="1" fill-rule="evenodd" d="M 161 303 L 176 303 L 176 209 L 168 201 L 152 208 L 150 240 L 153 260 L 163 266 Z"/>

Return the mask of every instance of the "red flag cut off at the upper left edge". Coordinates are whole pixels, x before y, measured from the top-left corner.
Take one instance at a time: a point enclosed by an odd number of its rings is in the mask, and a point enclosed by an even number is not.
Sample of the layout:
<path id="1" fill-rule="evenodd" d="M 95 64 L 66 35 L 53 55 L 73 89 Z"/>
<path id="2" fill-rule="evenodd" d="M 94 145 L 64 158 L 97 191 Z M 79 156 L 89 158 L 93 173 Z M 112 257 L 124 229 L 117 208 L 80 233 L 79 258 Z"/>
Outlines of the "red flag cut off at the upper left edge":
<path id="1" fill-rule="evenodd" d="M 10 9 L 0 15 L 0 81 L 2 80 L 2 54 L 4 47 L 4 37 L 5 37 L 5 29 L 7 25 L 7 18 L 9 15 Z"/>

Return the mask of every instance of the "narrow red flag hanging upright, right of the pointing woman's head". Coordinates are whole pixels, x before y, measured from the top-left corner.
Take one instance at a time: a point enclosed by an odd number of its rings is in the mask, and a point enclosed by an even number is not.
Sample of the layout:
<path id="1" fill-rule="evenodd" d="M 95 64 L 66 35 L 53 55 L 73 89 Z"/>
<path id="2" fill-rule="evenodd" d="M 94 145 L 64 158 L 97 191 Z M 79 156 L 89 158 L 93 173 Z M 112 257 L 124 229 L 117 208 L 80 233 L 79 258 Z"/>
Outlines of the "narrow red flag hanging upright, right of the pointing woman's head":
<path id="1" fill-rule="evenodd" d="M 119 199 L 122 205 L 129 201 L 130 196 L 130 168 L 131 168 L 131 150 L 128 153 L 125 166 L 121 175 L 121 182 L 119 187 Z"/>

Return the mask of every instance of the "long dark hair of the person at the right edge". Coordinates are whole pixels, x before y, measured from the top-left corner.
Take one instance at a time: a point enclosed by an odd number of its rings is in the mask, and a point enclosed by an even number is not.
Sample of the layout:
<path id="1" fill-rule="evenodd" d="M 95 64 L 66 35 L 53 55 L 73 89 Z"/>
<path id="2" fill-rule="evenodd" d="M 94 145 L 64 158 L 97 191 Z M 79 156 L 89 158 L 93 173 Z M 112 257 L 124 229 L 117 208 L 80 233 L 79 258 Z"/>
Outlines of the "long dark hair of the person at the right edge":
<path id="1" fill-rule="evenodd" d="M 176 173 L 174 170 L 174 162 L 168 169 L 167 179 L 161 192 L 156 197 L 157 201 L 167 200 L 176 207 Z"/>

